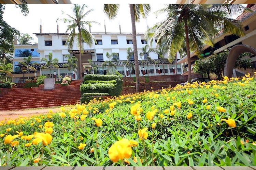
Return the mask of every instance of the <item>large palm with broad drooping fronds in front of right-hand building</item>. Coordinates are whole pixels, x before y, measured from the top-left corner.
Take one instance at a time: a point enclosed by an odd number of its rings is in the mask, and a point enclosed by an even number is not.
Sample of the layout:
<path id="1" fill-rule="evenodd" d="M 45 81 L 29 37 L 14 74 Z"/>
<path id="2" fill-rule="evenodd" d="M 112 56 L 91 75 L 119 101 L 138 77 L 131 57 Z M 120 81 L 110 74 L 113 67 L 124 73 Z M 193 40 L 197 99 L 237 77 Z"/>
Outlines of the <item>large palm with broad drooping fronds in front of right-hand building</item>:
<path id="1" fill-rule="evenodd" d="M 244 36 L 241 22 L 232 17 L 251 10 L 239 4 L 167 4 L 160 11 L 167 12 L 167 18 L 148 29 L 146 36 L 151 42 L 158 37 L 157 44 L 166 41 L 169 57 L 175 56 L 185 40 L 191 83 L 190 51 L 200 57 L 204 45 L 214 46 L 213 37 L 220 30 L 224 34 Z"/>

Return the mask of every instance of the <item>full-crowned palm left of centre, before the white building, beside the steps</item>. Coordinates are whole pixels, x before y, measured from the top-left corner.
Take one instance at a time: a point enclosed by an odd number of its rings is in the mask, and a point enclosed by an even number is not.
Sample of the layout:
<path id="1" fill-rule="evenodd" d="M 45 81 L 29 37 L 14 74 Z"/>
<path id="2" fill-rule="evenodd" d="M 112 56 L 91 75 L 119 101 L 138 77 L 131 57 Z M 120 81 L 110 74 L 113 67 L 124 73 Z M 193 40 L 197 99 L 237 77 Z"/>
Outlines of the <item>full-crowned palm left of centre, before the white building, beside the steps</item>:
<path id="1" fill-rule="evenodd" d="M 97 43 L 93 35 L 85 28 L 85 25 L 88 25 L 91 27 L 91 23 L 97 23 L 95 21 L 83 21 L 83 19 L 91 12 L 93 9 L 90 9 L 89 11 L 84 13 L 84 8 L 88 7 L 87 5 L 83 4 L 81 7 L 80 4 L 74 4 L 72 11 L 74 14 L 74 17 L 66 14 L 68 18 L 62 18 L 62 19 L 57 19 L 62 20 L 64 23 L 69 23 L 68 29 L 66 30 L 66 34 L 68 31 L 71 31 L 66 44 L 68 45 L 68 49 L 73 48 L 73 43 L 74 39 L 77 41 L 77 45 L 79 46 L 79 70 L 80 70 L 80 75 L 78 75 L 78 79 L 81 79 L 81 84 L 83 83 L 83 73 L 82 73 L 82 53 L 83 53 L 83 44 L 82 44 L 82 39 L 84 43 L 88 44 L 90 47 L 94 45 L 94 43 Z M 62 11 L 62 14 L 65 14 L 65 12 Z M 75 32 L 75 29 L 78 28 L 79 33 Z"/>

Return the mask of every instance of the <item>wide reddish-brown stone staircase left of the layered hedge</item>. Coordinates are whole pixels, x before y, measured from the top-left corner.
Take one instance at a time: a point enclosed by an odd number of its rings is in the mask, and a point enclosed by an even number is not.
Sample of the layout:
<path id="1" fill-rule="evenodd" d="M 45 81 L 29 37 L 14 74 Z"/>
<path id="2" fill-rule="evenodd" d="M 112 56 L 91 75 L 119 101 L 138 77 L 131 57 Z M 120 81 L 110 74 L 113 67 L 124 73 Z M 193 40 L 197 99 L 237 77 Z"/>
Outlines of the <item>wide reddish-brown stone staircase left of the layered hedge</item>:
<path id="1" fill-rule="evenodd" d="M 54 90 L 12 88 L 0 97 L 0 111 L 75 104 L 80 102 L 80 83 L 81 80 L 72 80 L 70 85 Z"/>

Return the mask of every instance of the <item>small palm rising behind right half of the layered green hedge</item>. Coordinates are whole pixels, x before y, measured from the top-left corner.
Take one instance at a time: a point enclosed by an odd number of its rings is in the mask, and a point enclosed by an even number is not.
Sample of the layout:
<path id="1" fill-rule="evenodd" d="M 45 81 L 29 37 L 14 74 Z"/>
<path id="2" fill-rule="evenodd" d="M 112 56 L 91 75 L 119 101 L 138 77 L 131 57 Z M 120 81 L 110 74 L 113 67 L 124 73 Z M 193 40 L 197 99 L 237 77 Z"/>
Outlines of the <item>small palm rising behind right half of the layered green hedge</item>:
<path id="1" fill-rule="evenodd" d="M 118 56 L 117 53 L 111 53 L 109 54 L 109 52 L 106 53 L 106 57 L 108 58 L 108 60 L 106 60 L 103 64 L 102 64 L 102 68 L 104 69 L 106 66 L 108 66 L 108 74 L 115 74 L 116 73 L 116 64 L 113 63 L 114 62 L 118 62 L 118 60 L 116 59 L 116 57 Z"/>

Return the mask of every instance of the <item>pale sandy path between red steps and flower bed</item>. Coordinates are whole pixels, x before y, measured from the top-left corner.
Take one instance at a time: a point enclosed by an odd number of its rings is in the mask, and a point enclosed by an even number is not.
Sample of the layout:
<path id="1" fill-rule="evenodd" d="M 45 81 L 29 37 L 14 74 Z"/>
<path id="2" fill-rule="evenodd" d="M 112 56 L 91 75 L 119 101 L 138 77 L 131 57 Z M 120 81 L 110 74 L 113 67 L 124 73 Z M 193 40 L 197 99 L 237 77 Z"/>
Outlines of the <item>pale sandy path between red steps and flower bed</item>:
<path id="1" fill-rule="evenodd" d="M 19 116 L 32 116 L 33 114 L 47 114 L 49 110 L 53 112 L 60 111 L 60 108 L 42 108 L 32 110 L 12 110 L 12 111 L 0 111 L 0 121 L 7 119 L 16 119 Z"/>

